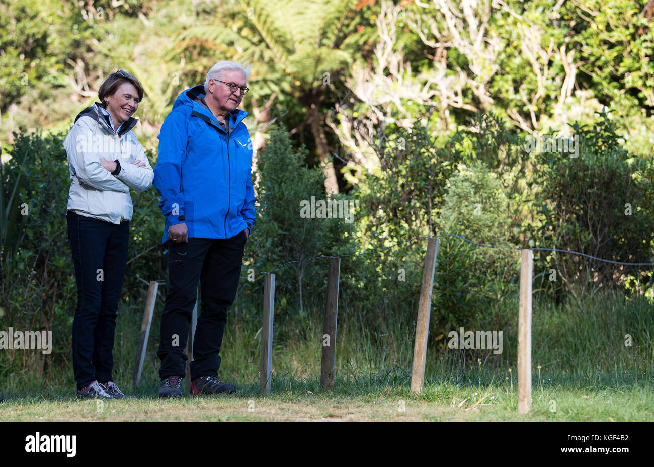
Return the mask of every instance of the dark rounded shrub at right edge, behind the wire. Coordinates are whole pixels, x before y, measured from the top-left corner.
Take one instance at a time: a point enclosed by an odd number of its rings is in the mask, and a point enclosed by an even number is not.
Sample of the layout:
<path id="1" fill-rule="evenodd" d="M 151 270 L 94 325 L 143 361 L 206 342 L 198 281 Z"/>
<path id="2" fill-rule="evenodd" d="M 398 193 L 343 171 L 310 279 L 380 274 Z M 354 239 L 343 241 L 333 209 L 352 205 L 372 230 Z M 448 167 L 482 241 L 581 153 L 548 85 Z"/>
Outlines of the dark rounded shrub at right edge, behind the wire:
<path id="1" fill-rule="evenodd" d="M 651 160 L 633 158 L 623 148 L 608 115 L 592 128 L 574 124 L 579 156 L 557 152 L 539 155 L 534 167 L 536 205 L 542 222 L 534 223 L 537 247 L 568 249 L 619 262 L 652 262 L 654 179 Z M 629 215 L 630 212 L 630 215 Z M 551 287 L 585 290 L 617 286 L 640 269 L 569 253 L 543 252 L 539 269 L 557 271 Z"/>

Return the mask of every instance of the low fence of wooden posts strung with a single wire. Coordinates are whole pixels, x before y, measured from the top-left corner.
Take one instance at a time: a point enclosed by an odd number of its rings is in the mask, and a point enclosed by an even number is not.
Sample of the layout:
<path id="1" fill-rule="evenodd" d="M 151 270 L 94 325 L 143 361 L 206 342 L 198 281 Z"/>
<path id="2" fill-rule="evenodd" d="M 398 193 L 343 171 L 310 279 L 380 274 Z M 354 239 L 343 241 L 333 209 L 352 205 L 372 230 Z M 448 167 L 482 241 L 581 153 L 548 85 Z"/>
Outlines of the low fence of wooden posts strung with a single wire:
<path id="1" fill-rule="evenodd" d="M 427 251 L 424 258 L 424 270 L 422 273 L 422 282 L 420 290 L 420 298 L 418 303 L 418 314 L 415 328 L 415 345 L 413 353 L 413 368 L 411 371 L 411 392 L 419 393 L 422 391 L 424 383 L 424 372 L 426 368 L 426 354 L 427 343 L 429 334 L 430 322 L 430 308 L 432 287 L 434 285 L 434 270 L 436 267 L 436 256 L 438 254 L 438 243 L 441 237 L 455 237 L 477 245 L 479 247 L 487 248 L 506 248 L 511 250 L 521 251 L 521 266 L 520 266 L 520 283 L 519 283 L 519 317 L 518 317 L 518 354 L 517 354 L 517 369 L 518 369 L 518 412 L 528 413 L 531 405 L 531 389 L 532 389 L 532 281 L 533 281 L 533 251 L 552 251 L 560 253 L 576 254 L 598 260 L 610 264 L 617 264 L 621 266 L 654 266 L 652 262 L 621 262 L 615 260 L 608 260 L 606 258 L 598 258 L 591 254 L 583 252 L 557 249 L 557 248 L 521 248 L 513 245 L 486 245 L 462 237 L 456 234 L 439 234 L 436 237 L 419 236 L 411 239 L 403 240 L 394 245 L 390 245 L 383 249 L 374 251 L 365 251 L 356 254 L 341 254 L 338 256 L 323 255 L 308 258 L 306 260 L 288 261 L 279 266 L 275 266 L 270 271 L 262 271 L 256 275 L 265 274 L 264 280 L 264 313 L 262 316 L 262 337 L 261 337 L 261 366 L 260 366 L 260 392 L 266 393 L 271 390 L 271 355 L 273 352 L 273 319 L 275 313 L 275 275 L 273 271 L 283 268 L 288 264 L 304 263 L 322 258 L 330 258 L 329 268 L 327 274 L 327 288 L 326 288 L 326 303 L 324 312 L 324 326 L 322 328 L 322 356 L 320 363 L 320 386 L 324 389 L 334 389 L 334 372 L 336 368 L 336 325 L 337 325 L 337 310 L 338 310 L 338 289 L 340 277 L 340 258 L 363 256 L 364 254 L 375 254 L 387 251 L 398 245 L 407 242 L 427 239 Z M 254 269 L 252 269 L 254 271 Z M 249 273 L 251 274 L 251 273 Z M 140 279 L 140 278 L 139 278 Z M 249 279 L 249 277 L 241 277 L 241 279 Z M 141 279 L 143 280 L 143 279 Z M 252 281 L 252 279 L 249 279 Z M 145 282 L 145 281 L 144 281 Z M 141 326 L 141 337 L 139 339 L 139 349 L 141 352 L 137 358 L 134 367 L 134 385 L 139 382 L 141 369 L 143 368 L 143 361 L 145 358 L 145 346 L 149 334 L 150 323 L 152 322 L 152 313 L 154 312 L 154 301 L 156 300 L 158 284 L 154 281 L 150 282 L 150 290 L 148 290 L 148 301 L 146 303 L 146 311 L 143 317 L 143 324 Z M 187 361 L 187 373 L 190 374 L 190 367 L 188 363 L 192 360 L 192 348 L 196 322 L 198 319 L 198 300 L 196 299 L 196 307 L 192 312 L 192 325 L 189 329 L 187 348 L 190 355 Z M 538 367 L 540 369 L 540 367 Z M 190 379 L 188 380 L 190 381 Z M 188 383 L 190 385 L 190 382 Z M 188 386 L 187 385 L 187 386 Z M 187 389 L 188 390 L 188 389 Z"/>

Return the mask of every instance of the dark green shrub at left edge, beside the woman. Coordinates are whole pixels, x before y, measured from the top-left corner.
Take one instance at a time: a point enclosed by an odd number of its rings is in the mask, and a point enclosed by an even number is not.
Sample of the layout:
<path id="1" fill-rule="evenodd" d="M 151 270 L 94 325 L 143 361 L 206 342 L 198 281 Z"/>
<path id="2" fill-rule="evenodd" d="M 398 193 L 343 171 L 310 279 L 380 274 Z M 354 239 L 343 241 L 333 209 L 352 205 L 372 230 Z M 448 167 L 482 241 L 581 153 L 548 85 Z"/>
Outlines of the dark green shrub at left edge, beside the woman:
<path id="1" fill-rule="evenodd" d="M 52 331 L 52 354 L 2 353 L 3 369 L 45 368 L 68 358 L 77 300 L 67 235 L 69 169 L 61 135 L 14 133 L 1 165 L 3 216 L 0 317 L 3 327 Z M 20 359 L 18 358 L 20 356 Z M 46 367 L 48 362 L 48 367 Z"/>

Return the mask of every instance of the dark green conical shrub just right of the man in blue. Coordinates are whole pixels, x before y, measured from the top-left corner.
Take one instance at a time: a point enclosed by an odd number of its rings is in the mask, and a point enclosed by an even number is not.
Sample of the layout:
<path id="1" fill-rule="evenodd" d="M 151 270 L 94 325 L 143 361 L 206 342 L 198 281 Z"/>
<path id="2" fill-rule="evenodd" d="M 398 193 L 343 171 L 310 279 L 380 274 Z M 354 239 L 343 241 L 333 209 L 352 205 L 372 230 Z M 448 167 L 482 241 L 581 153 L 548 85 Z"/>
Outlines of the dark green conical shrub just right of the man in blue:
<path id="1" fill-rule="evenodd" d="M 301 320 L 309 310 L 324 306 L 324 294 L 317 292 L 326 286 L 326 258 L 305 261 L 316 256 L 351 254 L 354 222 L 345 218 L 304 217 L 302 209 L 327 199 L 324 176 L 319 167 L 305 166 L 307 150 L 294 150 L 284 128 L 271 134 L 269 143 L 258 160 L 259 184 L 256 224 L 245 251 L 241 276 L 273 271 L 275 279 L 275 309 L 282 315 Z M 332 201 L 348 202 L 343 195 L 331 196 Z M 344 205 L 341 205 L 343 208 Z M 310 208 L 309 208 L 310 209 Z M 349 209 L 349 204 L 348 204 Z M 332 211 L 333 212 L 333 211 Z M 348 211 L 350 212 L 350 211 Z M 308 213 L 311 215 L 311 213 Z M 339 211 L 337 214 L 345 214 Z M 341 277 L 347 276 L 351 262 L 341 261 Z M 245 298 L 253 300 L 252 309 L 259 315 L 262 275 L 258 281 L 243 285 Z"/>

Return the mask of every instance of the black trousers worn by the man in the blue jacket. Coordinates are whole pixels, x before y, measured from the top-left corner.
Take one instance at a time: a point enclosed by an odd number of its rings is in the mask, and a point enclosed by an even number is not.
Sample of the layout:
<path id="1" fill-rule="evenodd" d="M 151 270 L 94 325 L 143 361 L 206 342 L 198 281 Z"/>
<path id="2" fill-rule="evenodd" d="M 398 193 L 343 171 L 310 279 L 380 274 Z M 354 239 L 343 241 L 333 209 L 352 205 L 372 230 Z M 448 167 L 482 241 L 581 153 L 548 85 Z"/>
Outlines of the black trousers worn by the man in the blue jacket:
<path id="1" fill-rule="evenodd" d="M 243 230 L 228 239 L 168 241 L 169 285 L 157 352 L 162 362 L 160 378 L 184 377 L 186 373 L 188 356 L 184 349 L 198 298 L 198 280 L 201 306 L 193 339 L 191 379 L 218 375 L 227 309 L 236 298 L 246 239 Z"/>

